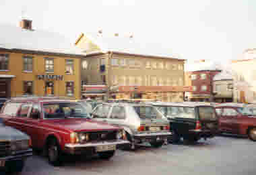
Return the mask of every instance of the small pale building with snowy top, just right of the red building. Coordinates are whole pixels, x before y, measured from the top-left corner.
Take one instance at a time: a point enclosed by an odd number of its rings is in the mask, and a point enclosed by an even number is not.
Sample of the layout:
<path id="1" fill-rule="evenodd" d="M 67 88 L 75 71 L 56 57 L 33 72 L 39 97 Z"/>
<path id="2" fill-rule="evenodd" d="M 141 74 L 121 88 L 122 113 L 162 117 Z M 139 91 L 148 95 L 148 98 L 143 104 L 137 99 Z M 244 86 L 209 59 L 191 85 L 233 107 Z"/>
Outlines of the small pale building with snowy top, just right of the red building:
<path id="1" fill-rule="evenodd" d="M 222 70 L 213 80 L 214 101 L 226 103 L 233 101 L 233 78 L 230 72 Z"/>

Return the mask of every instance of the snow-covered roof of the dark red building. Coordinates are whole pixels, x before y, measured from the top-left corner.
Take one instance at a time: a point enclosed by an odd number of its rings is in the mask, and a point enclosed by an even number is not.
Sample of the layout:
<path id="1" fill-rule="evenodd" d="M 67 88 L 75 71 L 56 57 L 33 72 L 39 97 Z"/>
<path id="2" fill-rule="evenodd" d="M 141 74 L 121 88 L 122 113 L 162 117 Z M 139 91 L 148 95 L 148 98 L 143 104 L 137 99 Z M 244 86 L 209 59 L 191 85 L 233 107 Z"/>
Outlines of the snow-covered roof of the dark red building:
<path id="1" fill-rule="evenodd" d="M 186 62 L 185 72 L 195 72 L 200 70 L 221 70 L 220 64 L 217 62 L 207 61 L 205 62 Z"/>

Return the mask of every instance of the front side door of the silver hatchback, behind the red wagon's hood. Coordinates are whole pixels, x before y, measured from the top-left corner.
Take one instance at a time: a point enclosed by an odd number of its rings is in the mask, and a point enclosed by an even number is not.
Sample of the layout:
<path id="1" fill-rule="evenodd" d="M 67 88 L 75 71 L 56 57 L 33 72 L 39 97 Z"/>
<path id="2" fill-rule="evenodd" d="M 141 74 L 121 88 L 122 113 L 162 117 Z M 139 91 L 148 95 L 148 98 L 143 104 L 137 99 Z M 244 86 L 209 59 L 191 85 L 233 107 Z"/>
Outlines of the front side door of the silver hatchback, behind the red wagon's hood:
<path id="1" fill-rule="evenodd" d="M 108 105 L 99 105 L 92 112 L 92 118 L 96 121 L 107 121 L 108 113 L 110 112 L 110 106 Z"/>

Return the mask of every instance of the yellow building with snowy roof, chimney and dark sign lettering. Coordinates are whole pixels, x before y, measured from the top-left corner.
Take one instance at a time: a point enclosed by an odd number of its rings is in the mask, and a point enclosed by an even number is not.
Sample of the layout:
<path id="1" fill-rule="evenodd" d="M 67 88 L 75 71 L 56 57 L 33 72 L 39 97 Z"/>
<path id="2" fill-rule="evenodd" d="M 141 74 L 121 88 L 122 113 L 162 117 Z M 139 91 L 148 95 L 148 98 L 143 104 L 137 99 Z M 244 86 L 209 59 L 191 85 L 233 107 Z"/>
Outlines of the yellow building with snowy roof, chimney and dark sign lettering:
<path id="1" fill-rule="evenodd" d="M 81 58 L 65 38 L 32 30 L 32 21 L 20 27 L 1 25 L 0 97 L 23 95 L 80 99 Z"/>

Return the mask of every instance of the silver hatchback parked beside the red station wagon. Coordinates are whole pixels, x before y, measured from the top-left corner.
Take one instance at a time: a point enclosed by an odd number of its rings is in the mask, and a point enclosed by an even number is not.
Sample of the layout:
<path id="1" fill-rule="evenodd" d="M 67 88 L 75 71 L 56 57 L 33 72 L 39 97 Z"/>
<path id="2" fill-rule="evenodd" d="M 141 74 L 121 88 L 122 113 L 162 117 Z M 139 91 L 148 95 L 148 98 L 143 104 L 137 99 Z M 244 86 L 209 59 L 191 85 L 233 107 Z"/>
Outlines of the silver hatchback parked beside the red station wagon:
<path id="1" fill-rule="evenodd" d="M 123 127 L 130 149 L 143 142 L 159 148 L 172 135 L 168 119 L 151 105 L 106 103 L 92 111 L 92 119 Z"/>

